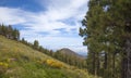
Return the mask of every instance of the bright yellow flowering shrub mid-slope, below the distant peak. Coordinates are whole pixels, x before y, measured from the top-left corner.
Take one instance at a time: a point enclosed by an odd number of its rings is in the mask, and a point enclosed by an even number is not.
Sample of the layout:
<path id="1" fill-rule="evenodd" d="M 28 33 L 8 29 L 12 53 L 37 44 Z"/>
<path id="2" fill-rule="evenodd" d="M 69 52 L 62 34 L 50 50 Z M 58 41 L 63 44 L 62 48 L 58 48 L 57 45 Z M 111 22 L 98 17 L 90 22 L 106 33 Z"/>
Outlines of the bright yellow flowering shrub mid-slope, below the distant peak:
<path id="1" fill-rule="evenodd" d="M 51 66 L 51 67 L 55 67 L 55 68 L 61 68 L 62 67 L 62 64 L 60 62 L 55 61 L 55 60 L 47 60 L 46 64 Z"/>

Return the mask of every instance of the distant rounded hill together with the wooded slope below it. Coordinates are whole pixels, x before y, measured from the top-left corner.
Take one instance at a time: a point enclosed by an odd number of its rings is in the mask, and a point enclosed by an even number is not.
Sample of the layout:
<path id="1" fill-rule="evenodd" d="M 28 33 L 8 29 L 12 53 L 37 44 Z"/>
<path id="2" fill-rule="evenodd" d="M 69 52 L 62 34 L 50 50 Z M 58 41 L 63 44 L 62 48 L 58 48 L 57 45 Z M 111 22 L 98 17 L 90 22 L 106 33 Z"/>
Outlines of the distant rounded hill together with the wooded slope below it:
<path id="1" fill-rule="evenodd" d="M 57 60 L 62 61 L 69 65 L 73 65 L 84 69 L 86 69 L 87 67 L 86 58 L 70 49 L 63 48 L 55 52 L 55 54 Z"/>

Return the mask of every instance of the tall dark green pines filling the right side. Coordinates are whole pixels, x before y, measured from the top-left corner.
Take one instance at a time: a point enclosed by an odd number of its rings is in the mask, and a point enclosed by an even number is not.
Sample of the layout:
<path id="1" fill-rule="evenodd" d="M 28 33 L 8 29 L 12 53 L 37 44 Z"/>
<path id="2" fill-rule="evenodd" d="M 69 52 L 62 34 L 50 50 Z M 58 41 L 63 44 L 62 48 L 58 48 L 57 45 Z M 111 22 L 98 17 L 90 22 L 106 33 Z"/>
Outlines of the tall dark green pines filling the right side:
<path id="1" fill-rule="evenodd" d="M 131 77 L 131 1 L 90 0 L 80 36 L 87 69 L 103 78 Z"/>

